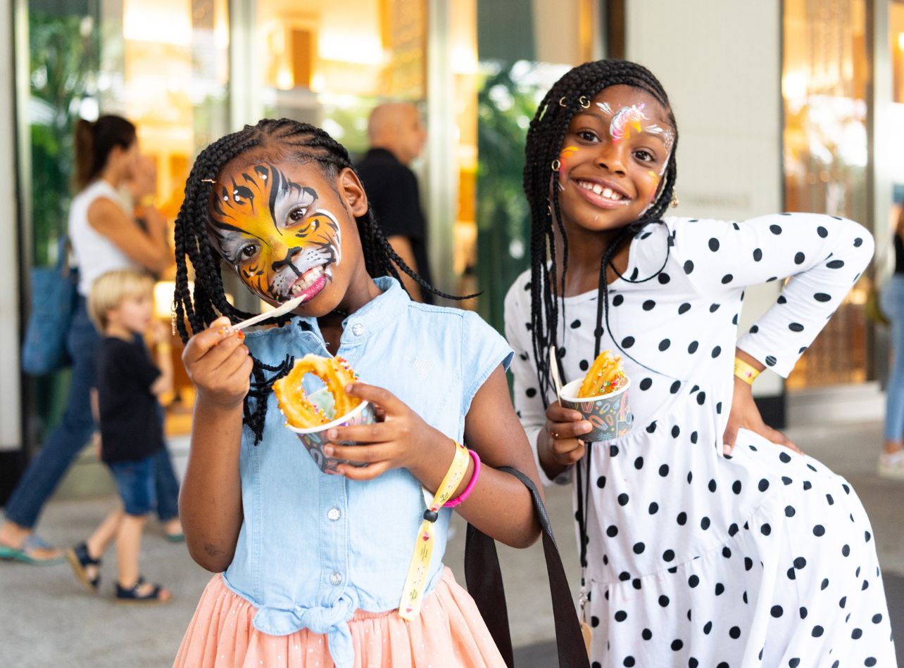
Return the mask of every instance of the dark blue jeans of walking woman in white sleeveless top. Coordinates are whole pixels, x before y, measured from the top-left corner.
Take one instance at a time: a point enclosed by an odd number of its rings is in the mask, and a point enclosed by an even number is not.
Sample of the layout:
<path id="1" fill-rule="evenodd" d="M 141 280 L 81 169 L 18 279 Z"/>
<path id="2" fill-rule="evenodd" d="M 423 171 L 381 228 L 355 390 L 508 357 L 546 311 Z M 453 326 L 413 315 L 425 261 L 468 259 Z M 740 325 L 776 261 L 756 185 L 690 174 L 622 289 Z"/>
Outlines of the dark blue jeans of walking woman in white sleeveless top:
<path id="1" fill-rule="evenodd" d="M 85 447 L 95 425 L 91 415 L 90 391 L 95 386 L 95 356 L 100 337 L 88 317 L 85 299 L 79 297 L 66 345 L 72 359 L 69 398 L 62 420 L 53 430 L 6 502 L 6 519 L 33 528 L 38 515 L 53 490 L 69 469 L 73 459 Z M 169 455 L 158 459 L 156 479 L 158 515 L 161 520 L 178 515 L 179 484 L 176 482 Z"/>

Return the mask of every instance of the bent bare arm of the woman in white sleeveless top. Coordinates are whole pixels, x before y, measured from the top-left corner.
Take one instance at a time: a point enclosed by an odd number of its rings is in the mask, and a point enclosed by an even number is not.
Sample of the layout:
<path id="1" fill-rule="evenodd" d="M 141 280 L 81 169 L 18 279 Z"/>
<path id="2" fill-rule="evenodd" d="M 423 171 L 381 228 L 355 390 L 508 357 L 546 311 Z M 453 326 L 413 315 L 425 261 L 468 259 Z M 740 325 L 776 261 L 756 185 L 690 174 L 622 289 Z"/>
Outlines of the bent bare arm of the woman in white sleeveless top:
<path id="1" fill-rule="evenodd" d="M 133 262 L 150 272 L 160 272 L 173 263 L 173 252 L 166 241 L 166 221 L 152 207 L 146 209 L 146 218 L 147 232 L 110 199 L 95 199 L 88 208 L 91 227 L 107 237 Z"/>

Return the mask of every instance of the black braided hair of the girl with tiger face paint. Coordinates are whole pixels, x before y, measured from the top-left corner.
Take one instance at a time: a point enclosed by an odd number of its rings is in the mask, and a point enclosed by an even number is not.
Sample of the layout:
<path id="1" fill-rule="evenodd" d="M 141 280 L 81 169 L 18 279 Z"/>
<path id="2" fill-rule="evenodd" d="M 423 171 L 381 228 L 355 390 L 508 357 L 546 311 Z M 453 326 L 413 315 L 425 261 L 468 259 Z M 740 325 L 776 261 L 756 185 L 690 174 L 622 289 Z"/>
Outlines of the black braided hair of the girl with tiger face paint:
<path id="1" fill-rule="evenodd" d="M 252 315 L 240 311 L 226 300 L 221 258 L 210 243 L 208 227 L 214 181 L 229 162 L 254 149 L 278 151 L 301 163 L 316 162 L 331 182 L 342 170 L 354 169 L 344 146 L 324 130 L 288 118 L 265 119 L 257 125 L 245 125 L 239 132 L 213 142 L 198 155 L 185 182 L 185 199 L 175 219 L 174 314 L 183 342 L 221 316 L 239 322 Z M 466 299 L 438 291 L 405 264 L 383 236 L 370 206 L 365 215 L 355 218 L 355 222 L 368 274 L 389 275 L 401 283 L 401 270 L 425 291 L 446 299 Z M 195 276 L 193 291 L 189 289 L 189 264 Z M 276 322 L 282 325 L 290 318 L 290 315 L 285 315 Z M 269 366 L 254 359 L 250 391 L 244 402 L 244 423 L 254 434 L 255 445 L 263 437 L 270 387 L 278 378 L 287 375 L 294 361 L 293 357 L 287 356 L 280 364 Z"/>

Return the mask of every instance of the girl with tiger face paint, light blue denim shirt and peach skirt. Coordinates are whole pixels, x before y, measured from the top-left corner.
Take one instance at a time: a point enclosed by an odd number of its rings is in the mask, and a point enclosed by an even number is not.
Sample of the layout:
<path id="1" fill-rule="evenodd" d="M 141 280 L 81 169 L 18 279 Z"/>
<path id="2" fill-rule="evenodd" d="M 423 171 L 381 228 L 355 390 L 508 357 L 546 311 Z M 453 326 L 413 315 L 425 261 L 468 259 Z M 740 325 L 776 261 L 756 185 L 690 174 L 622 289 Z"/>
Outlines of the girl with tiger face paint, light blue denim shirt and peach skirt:
<path id="1" fill-rule="evenodd" d="M 197 392 L 180 510 L 195 561 L 222 572 L 175 665 L 503 668 L 474 601 L 442 565 L 450 509 L 438 510 L 433 557 L 419 564 L 420 614 L 402 591 L 423 490 L 436 494 L 461 461 L 456 441 L 475 453 L 456 512 L 516 547 L 539 533 L 527 489 L 498 470 L 538 479 L 504 339 L 476 313 L 411 302 L 399 272 L 456 297 L 395 255 L 348 153 L 311 125 L 261 121 L 204 149 L 175 242 L 175 322 Z M 221 260 L 267 302 L 306 301 L 245 339 L 230 324 L 250 314 L 226 300 Z M 340 464 L 338 476 L 320 472 L 270 401 L 273 382 L 307 354 L 344 357 L 363 379 L 345 392 L 377 408 L 374 424 L 322 432 L 326 457 L 358 464 Z M 374 634 L 410 649 L 389 653 Z"/>

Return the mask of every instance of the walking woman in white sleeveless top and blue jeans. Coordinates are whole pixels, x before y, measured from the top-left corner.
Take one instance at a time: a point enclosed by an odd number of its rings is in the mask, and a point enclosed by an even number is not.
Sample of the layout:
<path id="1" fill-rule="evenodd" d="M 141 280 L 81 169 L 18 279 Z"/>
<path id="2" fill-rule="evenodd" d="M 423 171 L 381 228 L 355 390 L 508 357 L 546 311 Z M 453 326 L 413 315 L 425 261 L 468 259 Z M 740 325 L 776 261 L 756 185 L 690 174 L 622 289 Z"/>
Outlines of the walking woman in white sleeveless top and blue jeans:
<path id="1" fill-rule="evenodd" d="M 44 543 L 33 527 L 44 502 L 94 431 L 89 397 L 99 335 L 88 318 L 85 297 L 91 284 L 105 272 L 143 267 L 158 273 L 173 262 L 165 218 L 153 206 L 146 207 L 142 212 L 146 227 L 139 227 L 118 194 L 127 181 L 136 184 L 139 199 L 155 191 L 153 165 L 142 162 L 139 156 L 135 125 L 120 116 L 100 116 L 94 123 L 80 120 L 75 131 L 75 154 L 79 193 L 72 199 L 69 234 L 80 283 L 67 340 L 72 358 L 69 400 L 61 424 L 32 459 L 9 497 L 6 520 L 0 525 L 0 559 L 35 564 L 62 560 L 62 552 Z"/>

